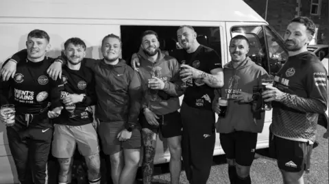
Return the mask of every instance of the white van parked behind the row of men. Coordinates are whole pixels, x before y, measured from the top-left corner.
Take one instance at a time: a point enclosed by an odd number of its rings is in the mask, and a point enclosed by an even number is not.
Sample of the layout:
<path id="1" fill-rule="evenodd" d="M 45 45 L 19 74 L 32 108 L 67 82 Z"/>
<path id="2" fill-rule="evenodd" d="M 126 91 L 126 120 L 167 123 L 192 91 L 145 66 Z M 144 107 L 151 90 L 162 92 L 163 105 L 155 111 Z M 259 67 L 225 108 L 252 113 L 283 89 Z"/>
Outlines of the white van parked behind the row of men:
<path id="1" fill-rule="evenodd" d="M 282 39 L 267 22 L 241 0 L 1 0 L 0 62 L 16 51 L 25 49 L 29 31 L 42 29 L 50 36 L 50 57 L 57 57 L 64 42 L 71 37 L 87 44 L 86 57 L 101 58 L 104 36 L 117 34 L 123 42 L 123 59 L 130 62 L 138 51 L 141 33 L 154 30 L 162 50 L 176 48 L 176 31 L 180 25 L 191 25 L 201 44 L 215 49 L 222 64 L 230 61 L 228 44 L 232 36 L 243 34 L 251 42 L 249 55 L 267 71 L 276 73 L 287 52 Z M 239 112 L 236 112 L 237 116 Z M 263 133 L 257 148 L 268 147 L 271 111 L 266 112 Z M 214 155 L 224 154 L 217 134 Z M 158 139 L 155 163 L 169 161 L 166 140 Z M 0 183 L 18 183 L 16 168 L 8 147 L 5 127 L 0 125 Z"/>

